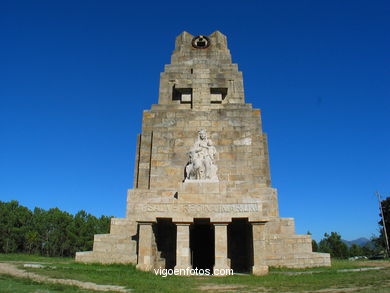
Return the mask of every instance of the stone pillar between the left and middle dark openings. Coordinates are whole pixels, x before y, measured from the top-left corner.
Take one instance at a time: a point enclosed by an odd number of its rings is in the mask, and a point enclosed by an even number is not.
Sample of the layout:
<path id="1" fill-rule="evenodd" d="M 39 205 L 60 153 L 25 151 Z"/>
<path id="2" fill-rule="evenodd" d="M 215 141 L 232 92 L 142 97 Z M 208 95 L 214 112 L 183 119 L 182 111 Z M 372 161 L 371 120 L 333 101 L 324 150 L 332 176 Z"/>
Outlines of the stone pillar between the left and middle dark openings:
<path id="1" fill-rule="evenodd" d="M 176 266 L 175 269 L 191 267 L 190 223 L 176 223 Z"/>

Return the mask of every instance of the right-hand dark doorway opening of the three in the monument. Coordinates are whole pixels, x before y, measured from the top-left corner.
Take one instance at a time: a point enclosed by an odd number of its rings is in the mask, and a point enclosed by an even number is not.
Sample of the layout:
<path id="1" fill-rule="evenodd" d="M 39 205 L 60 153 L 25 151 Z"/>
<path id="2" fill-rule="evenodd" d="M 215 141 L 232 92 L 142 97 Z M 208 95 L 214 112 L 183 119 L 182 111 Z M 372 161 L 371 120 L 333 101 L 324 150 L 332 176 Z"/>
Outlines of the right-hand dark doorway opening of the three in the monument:
<path id="1" fill-rule="evenodd" d="M 252 225 L 248 218 L 233 219 L 228 225 L 228 257 L 234 273 L 250 273 L 253 266 Z"/>

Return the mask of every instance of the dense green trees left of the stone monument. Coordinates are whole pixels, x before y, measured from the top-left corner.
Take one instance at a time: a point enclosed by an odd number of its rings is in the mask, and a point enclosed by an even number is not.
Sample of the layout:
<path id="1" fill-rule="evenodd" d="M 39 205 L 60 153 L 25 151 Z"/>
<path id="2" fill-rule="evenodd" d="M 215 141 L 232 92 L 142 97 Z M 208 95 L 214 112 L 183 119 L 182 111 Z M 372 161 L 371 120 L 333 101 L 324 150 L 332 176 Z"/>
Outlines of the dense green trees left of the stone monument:
<path id="1" fill-rule="evenodd" d="M 91 250 L 94 234 L 108 233 L 111 217 L 85 211 L 75 216 L 58 208 L 31 212 L 17 201 L 0 201 L 0 253 L 74 256 Z"/>

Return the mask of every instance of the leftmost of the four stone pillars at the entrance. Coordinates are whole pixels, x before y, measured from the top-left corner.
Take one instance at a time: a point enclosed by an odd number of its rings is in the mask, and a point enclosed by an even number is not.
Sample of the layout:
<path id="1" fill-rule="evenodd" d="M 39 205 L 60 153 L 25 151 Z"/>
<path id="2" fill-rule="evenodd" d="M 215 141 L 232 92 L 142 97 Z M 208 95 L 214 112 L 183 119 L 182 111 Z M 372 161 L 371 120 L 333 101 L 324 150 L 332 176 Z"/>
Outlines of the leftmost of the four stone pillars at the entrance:
<path id="1" fill-rule="evenodd" d="M 150 271 L 154 266 L 153 222 L 139 222 L 137 269 Z"/>

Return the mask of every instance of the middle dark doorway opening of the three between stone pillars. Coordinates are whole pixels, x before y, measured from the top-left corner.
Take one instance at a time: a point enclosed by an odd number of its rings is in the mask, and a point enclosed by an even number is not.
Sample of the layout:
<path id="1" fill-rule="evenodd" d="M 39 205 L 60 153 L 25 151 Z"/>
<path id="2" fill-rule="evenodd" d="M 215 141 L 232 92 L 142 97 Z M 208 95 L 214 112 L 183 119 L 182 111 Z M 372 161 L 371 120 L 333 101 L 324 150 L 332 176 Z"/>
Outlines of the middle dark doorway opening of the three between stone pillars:
<path id="1" fill-rule="evenodd" d="M 195 219 L 190 226 L 190 249 L 192 268 L 209 269 L 214 267 L 214 225 L 210 219 Z"/>

